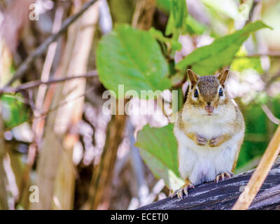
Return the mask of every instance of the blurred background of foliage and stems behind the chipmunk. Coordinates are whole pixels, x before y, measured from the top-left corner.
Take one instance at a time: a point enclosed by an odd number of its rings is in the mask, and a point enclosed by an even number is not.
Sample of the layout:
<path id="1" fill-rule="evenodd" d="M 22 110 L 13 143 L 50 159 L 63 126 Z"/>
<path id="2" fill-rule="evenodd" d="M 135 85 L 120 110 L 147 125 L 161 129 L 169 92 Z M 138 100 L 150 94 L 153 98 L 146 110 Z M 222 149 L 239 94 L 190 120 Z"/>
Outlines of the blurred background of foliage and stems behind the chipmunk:
<path id="1" fill-rule="evenodd" d="M 0 0 L 0 209 L 136 209 L 168 197 L 182 182 L 172 90 L 180 109 L 187 68 L 230 68 L 246 120 L 235 173 L 253 169 L 280 124 L 279 21 L 279 0 Z M 118 85 L 162 92 L 132 97 Z M 125 96 L 131 113 L 104 113 L 106 90 L 112 110 Z"/>

